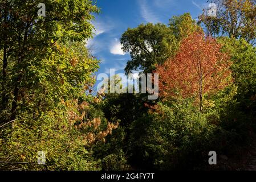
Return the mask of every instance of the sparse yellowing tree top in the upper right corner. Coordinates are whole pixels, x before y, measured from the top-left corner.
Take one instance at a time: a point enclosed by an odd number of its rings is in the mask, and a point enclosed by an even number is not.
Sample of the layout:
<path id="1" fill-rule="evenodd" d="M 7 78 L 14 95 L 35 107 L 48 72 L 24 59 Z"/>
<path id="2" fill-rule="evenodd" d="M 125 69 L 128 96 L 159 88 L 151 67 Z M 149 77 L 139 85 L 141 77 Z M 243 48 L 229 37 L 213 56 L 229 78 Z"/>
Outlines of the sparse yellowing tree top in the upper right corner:
<path id="1" fill-rule="evenodd" d="M 216 0 L 217 17 L 200 15 L 200 22 L 209 35 L 225 35 L 229 38 L 243 38 L 256 43 L 256 1 L 255 0 Z"/>

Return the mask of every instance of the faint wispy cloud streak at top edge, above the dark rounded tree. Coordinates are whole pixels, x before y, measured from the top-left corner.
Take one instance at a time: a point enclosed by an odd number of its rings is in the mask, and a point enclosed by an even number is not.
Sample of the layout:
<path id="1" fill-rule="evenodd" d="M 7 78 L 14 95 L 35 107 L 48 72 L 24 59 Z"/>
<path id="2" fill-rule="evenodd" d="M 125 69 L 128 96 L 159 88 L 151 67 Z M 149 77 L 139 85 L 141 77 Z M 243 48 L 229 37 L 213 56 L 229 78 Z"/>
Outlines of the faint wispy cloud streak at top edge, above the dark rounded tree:
<path id="1" fill-rule="evenodd" d="M 140 14 L 146 22 L 157 23 L 160 22 L 159 16 L 153 12 L 146 0 L 139 0 Z"/>

